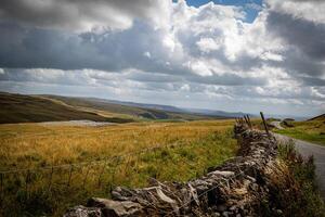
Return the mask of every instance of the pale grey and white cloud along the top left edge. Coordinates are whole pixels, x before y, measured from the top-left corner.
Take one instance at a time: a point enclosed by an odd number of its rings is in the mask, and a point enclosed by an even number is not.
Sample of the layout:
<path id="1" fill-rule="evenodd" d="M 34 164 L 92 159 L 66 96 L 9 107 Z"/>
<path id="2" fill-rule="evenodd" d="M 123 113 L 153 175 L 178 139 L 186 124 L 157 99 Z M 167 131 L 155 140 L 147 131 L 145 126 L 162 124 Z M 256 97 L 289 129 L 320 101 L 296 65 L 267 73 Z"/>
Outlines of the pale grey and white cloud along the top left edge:
<path id="1" fill-rule="evenodd" d="M 134 18 L 165 25 L 169 1 L 151 0 L 2 0 L 0 18 L 24 25 L 74 30 L 126 29 Z"/>

